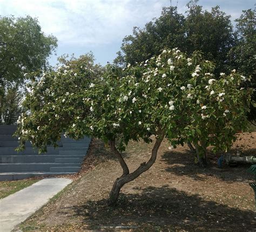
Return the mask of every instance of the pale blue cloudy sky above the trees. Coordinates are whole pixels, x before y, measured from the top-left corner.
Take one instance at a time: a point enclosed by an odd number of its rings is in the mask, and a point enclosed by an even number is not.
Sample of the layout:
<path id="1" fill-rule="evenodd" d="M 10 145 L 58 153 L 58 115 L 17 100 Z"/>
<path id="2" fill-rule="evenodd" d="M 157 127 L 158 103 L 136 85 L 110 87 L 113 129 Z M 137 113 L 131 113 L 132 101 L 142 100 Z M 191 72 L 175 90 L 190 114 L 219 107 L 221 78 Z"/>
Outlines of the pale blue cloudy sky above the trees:
<path id="1" fill-rule="evenodd" d="M 186 11 L 188 0 L 178 1 L 178 11 Z M 234 20 L 242 10 L 254 9 L 253 0 L 200 0 L 204 9 L 219 5 Z M 172 0 L 177 5 L 177 0 Z M 0 15 L 37 17 L 42 31 L 58 38 L 57 56 L 92 51 L 96 62 L 112 62 L 120 50 L 122 39 L 132 33 L 133 26 L 143 27 L 170 0 L 0 0 Z M 57 62 L 57 56 L 49 61 Z"/>

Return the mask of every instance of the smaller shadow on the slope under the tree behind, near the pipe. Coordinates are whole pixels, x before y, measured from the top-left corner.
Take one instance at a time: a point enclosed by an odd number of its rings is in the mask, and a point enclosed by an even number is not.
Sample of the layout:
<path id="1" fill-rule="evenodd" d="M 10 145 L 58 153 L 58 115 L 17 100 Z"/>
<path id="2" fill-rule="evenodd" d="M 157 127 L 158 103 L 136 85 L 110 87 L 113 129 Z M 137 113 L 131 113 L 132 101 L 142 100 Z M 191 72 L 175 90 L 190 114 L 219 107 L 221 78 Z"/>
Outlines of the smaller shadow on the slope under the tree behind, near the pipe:
<path id="1" fill-rule="evenodd" d="M 223 171 L 220 171 L 212 169 L 212 167 L 217 167 L 216 162 L 210 162 L 206 168 L 201 168 L 194 165 L 194 156 L 188 150 L 185 152 L 165 152 L 161 156 L 161 161 L 166 162 L 170 166 L 163 170 L 163 172 L 171 172 L 180 176 L 187 175 L 194 180 L 205 180 L 205 174 L 206 176 L 216 176 L 220 180 L 230 182 L 253 181 L 253 175 L 247 173 L 247 169 L 251 166 L 250 164 L 238 165 L 237 167 L 225 166 Z"/>

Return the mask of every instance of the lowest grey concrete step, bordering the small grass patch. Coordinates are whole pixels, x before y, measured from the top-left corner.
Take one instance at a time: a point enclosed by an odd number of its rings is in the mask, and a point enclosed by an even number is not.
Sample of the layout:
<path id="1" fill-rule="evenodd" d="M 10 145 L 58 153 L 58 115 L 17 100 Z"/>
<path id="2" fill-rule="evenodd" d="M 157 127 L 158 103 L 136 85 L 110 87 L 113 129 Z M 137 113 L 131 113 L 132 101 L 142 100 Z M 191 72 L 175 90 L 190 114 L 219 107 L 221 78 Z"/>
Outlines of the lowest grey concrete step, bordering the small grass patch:
<path id="1" fill-rule="evenodd" d="M 0 181 L 23 180 L 34 176 L 75 174 L 76 172 L 9 172 L 0 173 Z"/>

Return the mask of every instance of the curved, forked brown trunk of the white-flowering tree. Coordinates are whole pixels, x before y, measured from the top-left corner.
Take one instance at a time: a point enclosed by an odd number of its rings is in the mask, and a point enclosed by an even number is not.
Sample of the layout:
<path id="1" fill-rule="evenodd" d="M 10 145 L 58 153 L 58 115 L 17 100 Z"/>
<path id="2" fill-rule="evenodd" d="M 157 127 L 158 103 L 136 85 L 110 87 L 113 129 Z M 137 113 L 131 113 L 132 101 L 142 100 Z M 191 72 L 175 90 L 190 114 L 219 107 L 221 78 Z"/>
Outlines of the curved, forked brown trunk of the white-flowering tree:
<path id="1" fill-rule="evenodd" d="M 126 183 L 136 179 L 140 174 L 146 172 L 146 170 L 148 170 L 153 165 L 153 163 L 156 161 L 157 152 L 163 139 L 164 139 L 164 135 L 159 135 L 152 149 L 150 160 L 147 162 L 141 163 L 140 166 L 136 170 L 134 170 L 134 172 L 132 173 L 129 173 L 129 168 L 127 167 L 122 155 L 117 151 L 116 146 L 114 146 L 114 140 L 110 141 L 110 148 L 112 152 L 117 155 L 118 161 L 123 168 L 123 175 L 120 176 L 120 178 L 117 178 L 116 181 L 114 182 L 114 185 L 109 194 L 109 199 L 107 200 L 107 206 L 114 206 L 117 203 L 120 189 Z"/>

